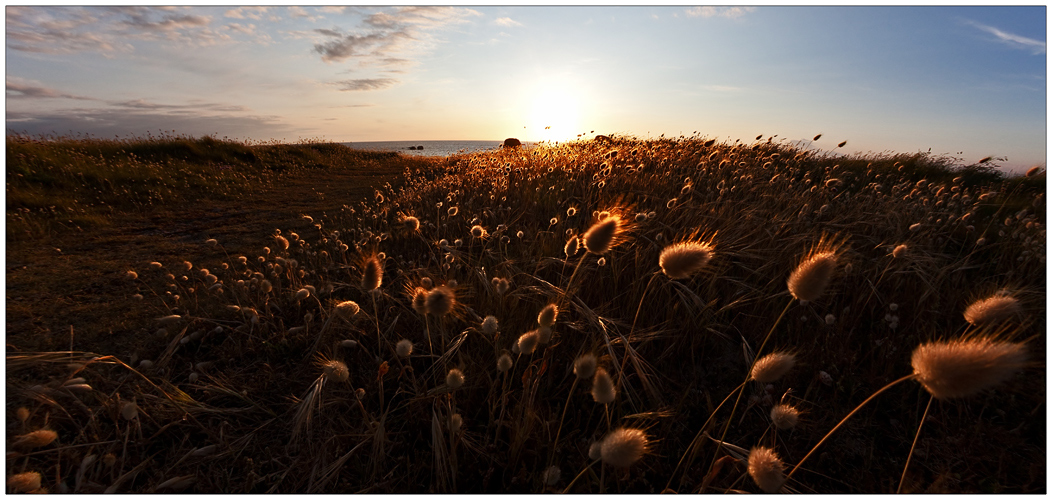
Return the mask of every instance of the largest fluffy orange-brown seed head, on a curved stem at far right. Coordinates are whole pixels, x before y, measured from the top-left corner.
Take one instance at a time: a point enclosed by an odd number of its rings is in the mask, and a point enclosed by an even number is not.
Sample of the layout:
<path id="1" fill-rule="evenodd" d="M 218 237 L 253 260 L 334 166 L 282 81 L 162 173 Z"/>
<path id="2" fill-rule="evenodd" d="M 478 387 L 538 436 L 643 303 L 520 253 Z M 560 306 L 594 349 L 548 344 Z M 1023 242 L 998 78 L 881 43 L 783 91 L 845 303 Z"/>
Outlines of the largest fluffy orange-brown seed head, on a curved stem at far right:
<path id="1" fill-rule="evenodd" d="M 964 398 L 1008 380 L 1027 363 L 1021 343 L 974 337 L 918 345 L 913 376 L 936 399 Z"/>

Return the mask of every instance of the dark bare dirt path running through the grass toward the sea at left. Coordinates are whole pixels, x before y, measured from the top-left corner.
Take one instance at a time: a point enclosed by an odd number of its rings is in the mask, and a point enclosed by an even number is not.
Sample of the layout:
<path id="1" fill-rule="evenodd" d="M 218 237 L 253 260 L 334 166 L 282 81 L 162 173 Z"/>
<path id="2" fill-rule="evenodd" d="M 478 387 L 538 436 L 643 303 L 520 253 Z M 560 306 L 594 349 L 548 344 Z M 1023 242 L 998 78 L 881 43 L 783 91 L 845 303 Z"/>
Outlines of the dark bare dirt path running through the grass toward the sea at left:
<path id="1" fill-rule="evenodd" d="M 276 228 L 307 229 L 311 223 L 304 215 L 338 212 L 400 178 L 393 168 L 370 175 L 308 171 L 238 200 L 159 206 L 113 217 L 105 227 L 8 241 L 7 352 L 65 351 L 72 344 L 126 356 L 156 327 L 153 318 L 167 314 L 157 301 L 133 300 L 128 269 L 143 273 L 151 261 L 219 265 L 223 254 L 204 243 L 209 238 L 231 255 L 259 255 L 272 244 Z"/>

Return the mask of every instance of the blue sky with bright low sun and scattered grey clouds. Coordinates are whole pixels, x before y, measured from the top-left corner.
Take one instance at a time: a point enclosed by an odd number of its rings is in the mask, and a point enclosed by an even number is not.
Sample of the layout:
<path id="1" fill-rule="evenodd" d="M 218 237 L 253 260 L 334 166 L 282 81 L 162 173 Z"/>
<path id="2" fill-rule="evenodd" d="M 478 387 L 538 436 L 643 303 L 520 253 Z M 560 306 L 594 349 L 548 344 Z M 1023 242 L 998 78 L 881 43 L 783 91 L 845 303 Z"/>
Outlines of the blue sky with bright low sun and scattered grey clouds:
<path id="1" fill-rule="evenodd" d="M 5 11 L 8 134 L 1047 156 L 1044 5 Z"/>

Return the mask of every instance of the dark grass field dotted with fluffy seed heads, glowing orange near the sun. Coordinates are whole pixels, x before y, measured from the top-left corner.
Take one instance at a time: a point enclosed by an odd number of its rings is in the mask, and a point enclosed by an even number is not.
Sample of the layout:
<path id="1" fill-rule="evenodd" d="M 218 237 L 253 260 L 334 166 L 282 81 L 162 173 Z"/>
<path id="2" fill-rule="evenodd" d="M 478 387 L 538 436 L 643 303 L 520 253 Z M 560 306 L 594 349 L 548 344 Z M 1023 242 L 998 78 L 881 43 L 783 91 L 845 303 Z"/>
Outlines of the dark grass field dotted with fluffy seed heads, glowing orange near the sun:
<path id="1" fill-rule="evenodd" d="M 1046 493 L 992 163 L 9 136 L 8 492 Z"/>

